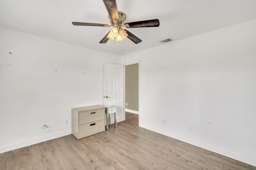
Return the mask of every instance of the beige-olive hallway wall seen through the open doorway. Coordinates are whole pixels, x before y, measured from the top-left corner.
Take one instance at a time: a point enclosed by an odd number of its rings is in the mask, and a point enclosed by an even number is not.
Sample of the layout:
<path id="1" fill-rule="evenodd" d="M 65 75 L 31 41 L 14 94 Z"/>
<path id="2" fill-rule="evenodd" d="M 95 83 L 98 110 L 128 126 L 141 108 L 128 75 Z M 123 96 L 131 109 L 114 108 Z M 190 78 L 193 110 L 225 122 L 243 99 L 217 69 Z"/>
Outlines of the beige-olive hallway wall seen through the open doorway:
<path id="1" fill-rule="evenodd" d="M 139 111 L 139 64 L 125 66 L 125 109 Z"/>

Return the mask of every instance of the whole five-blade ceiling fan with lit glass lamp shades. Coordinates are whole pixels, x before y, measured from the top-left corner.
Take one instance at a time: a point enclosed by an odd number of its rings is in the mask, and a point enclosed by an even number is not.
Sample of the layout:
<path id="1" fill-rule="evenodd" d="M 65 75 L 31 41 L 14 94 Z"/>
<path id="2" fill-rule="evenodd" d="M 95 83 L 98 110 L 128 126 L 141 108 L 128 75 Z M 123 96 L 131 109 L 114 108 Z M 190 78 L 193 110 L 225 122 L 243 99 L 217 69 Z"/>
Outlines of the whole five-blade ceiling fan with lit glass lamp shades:
<path id="1" fill-rule="evenodd" d="M 145 21 L 137 21 L 137 22 L 128 22 L 124 23 L 126 19 L 126 15 L 123 12 L 117 10 L 116 0 L 103 0 L 107 10 L 108 10 L 108 18 L 110 19 L 111 25 L 108 24 L 96 24 L 96 23 L 88 23 L 88 22 L 72 22 L 74 26 L 100 26 L 100 27 L 110 27 L 113 26 L 112 30 L 106 34 L 106 36 L 100 41 L 100 43 L 106 43 L 109 39 L 122 41 L 124 38 L 128 37 L 134 43 L 140 43 L 142 40 L 136 37 L 134 34 L 130 33 L 128 30 L 124 30 L 124 28 L 138 28 L 138 27 L 158 27 L 159 20 L 145 20 Z"/>

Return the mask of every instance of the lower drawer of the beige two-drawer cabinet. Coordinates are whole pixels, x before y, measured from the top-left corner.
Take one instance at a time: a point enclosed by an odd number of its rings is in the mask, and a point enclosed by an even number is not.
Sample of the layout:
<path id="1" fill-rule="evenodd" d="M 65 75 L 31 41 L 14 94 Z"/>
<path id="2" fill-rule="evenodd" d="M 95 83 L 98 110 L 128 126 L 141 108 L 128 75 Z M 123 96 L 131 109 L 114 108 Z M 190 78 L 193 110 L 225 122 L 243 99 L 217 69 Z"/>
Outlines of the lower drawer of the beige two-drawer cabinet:
<path id="1" fill-rule="evenodd" d="M 79 125 L 79 138 L 105 131 L 105 120 Z"/>

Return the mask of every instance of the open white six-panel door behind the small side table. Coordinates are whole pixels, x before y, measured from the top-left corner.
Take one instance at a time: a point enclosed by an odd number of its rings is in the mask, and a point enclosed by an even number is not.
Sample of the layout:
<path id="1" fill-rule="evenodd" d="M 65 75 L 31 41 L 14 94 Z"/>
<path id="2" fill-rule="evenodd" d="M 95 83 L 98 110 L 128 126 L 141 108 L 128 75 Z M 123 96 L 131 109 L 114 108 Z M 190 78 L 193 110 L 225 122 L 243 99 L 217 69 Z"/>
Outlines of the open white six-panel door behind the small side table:
<path id="1" fill-rule="evenodd" d="M 105 105 L 116 106 L 117 122 L 124 121 L 124 65 L 105 63 Z M 114 114 L 111 114 L 111 124 Z"/>

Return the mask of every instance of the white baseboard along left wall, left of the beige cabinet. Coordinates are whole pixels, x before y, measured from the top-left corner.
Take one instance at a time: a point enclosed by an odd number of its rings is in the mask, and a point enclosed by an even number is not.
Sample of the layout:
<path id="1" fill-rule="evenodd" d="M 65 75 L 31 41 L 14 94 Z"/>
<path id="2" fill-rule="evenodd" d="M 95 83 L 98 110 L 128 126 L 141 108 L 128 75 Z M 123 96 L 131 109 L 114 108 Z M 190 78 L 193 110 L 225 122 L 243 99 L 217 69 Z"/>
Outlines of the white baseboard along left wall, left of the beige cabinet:
<path id="1" fill-rule="evenodd" d="M 67 131 L 63 131 L 63 132 L 57 132 L 55 134 L 50 134 L 48 136 L 41 136 L 41 137 L 34 138 L 34 139 L 31 139 L 31 140 L 21 141 L 21 142 L 15 143 L 15 144 L 8 144 L 8 145 L 5 145 L 5 146 L 0 146 L 0 153 L 8 152 L 10 150 L 22 148 L 22 147 L 25 147 L 25 146 L 30 146 L 32 144 L 44 142 L 44 141 L 47 141 L 47 140 L 59 138 L 61 136 L 66 136 L 68 134 L 71 134 L 71 130 L 67 130 Z"/>

